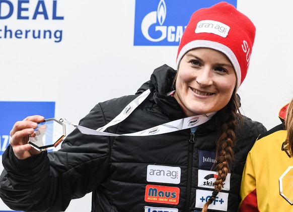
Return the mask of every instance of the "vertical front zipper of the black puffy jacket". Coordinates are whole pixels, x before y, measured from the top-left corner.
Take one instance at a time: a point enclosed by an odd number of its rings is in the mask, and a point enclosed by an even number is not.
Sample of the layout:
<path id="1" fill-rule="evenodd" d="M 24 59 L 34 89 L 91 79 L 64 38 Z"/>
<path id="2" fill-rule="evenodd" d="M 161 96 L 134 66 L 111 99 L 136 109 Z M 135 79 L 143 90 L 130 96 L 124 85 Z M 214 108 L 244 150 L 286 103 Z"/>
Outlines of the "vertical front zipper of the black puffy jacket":
<path id="1" fill-rule="evenodd" d="M 193 155 L 193 146 L 194 146 L 194 137 L 195 133 L 190 133 L 189 139 L 189 152 L 188 152 L 188 167 L 187 167 L 187 194 L 186 194 L 186 212 L 189 211 L 189 202 L 190 202 L 190 193 L 191 193 L 191 173 L 192 173 L 192 155 Z"/>

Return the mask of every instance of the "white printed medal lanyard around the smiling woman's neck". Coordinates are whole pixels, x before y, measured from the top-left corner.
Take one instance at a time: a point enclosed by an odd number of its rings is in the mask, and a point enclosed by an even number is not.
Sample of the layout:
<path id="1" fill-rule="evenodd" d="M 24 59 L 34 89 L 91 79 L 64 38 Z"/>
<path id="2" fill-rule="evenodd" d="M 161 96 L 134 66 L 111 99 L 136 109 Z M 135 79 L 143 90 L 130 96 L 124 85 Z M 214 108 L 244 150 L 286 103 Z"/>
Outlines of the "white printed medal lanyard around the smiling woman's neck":
<path id="1" fill-rule="evenodd" d="M 103 127 L 98 128 L 97 130 L 89 129 L 87 127 L 74 125 L 77 129 L 81 131 L 83 134 L 87 135 L 104 135 L 104 136 L 150 136 L 150 135 L 160 135 L 164 133 L 174 132 L 178 130 L 184 130 L 192 127 L 199 126 L 209 119 L 216 113 L 209 113 L 209 114 L 202 114 L 192 117 L 187 117 L 184 119 L 178 119 L 172 122 L 168 122 L 162 125 L 158 125 L 146 130 L 141 130 L 139 132 L 134 133 L 126 133 L 126 134 L 114 134 L 114 133 L 107 133 L 104 132 L 108 127 L 116 125 L 126 119 L 137 107 L 138 105 L 150 94 L 150 89 L 144 91 L 134 100 L 132 100 L 122 111 L 121 113 L 115 117 L 111 122 L 106 124 Z"/>

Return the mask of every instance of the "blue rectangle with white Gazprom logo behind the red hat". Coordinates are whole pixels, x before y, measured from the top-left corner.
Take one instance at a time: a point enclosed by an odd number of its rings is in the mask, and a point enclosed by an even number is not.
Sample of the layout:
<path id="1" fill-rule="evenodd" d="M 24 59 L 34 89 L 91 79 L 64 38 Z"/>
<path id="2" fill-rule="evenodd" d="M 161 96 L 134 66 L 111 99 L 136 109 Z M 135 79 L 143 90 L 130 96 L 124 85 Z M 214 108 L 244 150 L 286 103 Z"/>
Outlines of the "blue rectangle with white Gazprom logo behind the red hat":
<path id="1" fill-rule="evenodd" d="M 136 0 L 134 45 L 179 45 L 191 15 L 221 0 Z M 227 0 L 237 7 L 237 0 Z"/>

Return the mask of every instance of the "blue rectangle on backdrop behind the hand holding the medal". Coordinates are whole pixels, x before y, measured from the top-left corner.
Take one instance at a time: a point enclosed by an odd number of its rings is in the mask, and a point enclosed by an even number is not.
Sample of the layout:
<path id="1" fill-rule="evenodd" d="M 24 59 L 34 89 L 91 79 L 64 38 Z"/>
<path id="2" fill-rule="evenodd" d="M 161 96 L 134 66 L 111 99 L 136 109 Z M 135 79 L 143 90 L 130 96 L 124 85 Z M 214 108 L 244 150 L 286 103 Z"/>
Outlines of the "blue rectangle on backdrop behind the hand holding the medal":
<path id="1" fill-rule="evenodd" d="M 55 102 L 0 101 L 0 154 L 10 141 L 10 131 L 15 122 L 39 114 L 45 119 L 55 116 Z"/>

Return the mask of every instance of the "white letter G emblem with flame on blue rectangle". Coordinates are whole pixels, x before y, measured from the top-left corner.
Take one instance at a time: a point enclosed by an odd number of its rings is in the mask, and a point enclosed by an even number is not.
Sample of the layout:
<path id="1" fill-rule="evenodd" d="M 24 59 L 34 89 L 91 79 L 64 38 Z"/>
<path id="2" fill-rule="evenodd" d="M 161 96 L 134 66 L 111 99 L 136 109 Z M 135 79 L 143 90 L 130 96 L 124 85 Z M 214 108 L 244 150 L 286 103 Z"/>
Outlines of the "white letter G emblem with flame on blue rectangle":
<path id="1" fill-rule="evenodd" d="M 163 39 L 165 39 L 167 37 L 167 26 L 163 26 L 164 21 L 166 19 L 166 14 L 167 14 L 167 8 L 166 8 L 166 4 L 164 0 L 161 0 L 159 5 L 158 5 L 158 9 L 157 11 L 153 11 L 149 14 L 147 14 L 142 22 L 141 22 L 141 32 L 143 34 L 143 36 L 153 42 L 158 42 L 158 41 L 162 41 Z M 149 28 L 153 25 L 153 24 L 157 24 L 157 21 L 159 22 L 159 26 L 155 27 L 156 31 L 161 31 L 162 35 L 159 38 L 152 38 L 149 34 Z"/>

